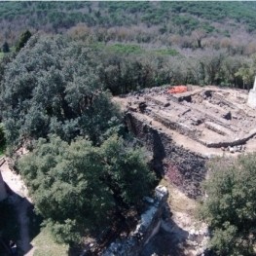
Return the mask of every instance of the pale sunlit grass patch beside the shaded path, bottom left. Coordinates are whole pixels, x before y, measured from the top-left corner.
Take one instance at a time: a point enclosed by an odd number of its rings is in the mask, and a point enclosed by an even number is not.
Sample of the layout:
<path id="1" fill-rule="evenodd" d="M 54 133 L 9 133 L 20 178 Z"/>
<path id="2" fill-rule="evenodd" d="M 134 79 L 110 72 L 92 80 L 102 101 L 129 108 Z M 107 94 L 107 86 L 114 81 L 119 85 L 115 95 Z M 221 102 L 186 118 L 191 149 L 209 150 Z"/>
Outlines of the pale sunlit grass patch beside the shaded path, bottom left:
<path id="1" fill-rule="evenodd" d="M 33 256 L 64 256 L 68 255 L 69 246 L 55 242 L 53 235 L 47 228 L 43 228 L 40 234 L 32 240 L 35 247 Z"/>

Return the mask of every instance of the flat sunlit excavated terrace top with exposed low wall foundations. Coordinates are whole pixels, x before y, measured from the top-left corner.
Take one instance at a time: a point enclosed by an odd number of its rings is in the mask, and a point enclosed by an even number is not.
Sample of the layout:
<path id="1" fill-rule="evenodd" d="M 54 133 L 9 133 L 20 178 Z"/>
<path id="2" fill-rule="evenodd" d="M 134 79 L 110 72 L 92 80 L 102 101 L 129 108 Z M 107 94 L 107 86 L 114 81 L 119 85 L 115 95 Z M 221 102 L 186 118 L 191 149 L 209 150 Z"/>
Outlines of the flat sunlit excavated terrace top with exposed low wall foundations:
<path id="1" fill-rule="evenodd" d="M 247 97 L 242 90 L 189 86 L 181 93 L 153 88 L 116 100 L 153 127 L 163 126 L 177 144 L 208 156 L 255 150 L 256 113 Z"/>

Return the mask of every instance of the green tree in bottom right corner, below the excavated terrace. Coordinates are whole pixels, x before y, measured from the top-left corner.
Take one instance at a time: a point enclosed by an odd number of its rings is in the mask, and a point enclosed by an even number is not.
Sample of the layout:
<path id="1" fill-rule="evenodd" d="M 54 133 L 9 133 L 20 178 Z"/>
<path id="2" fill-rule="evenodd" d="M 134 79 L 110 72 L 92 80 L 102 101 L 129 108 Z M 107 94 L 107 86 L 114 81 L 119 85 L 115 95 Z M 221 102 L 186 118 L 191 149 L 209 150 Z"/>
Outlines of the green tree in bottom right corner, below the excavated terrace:
<path id="1" fill-rule="evenodd" d="M 255 255 L 256 155 L 214 160 L 204 188 L 201 216 L 211 248 L 217 255 Z"/>

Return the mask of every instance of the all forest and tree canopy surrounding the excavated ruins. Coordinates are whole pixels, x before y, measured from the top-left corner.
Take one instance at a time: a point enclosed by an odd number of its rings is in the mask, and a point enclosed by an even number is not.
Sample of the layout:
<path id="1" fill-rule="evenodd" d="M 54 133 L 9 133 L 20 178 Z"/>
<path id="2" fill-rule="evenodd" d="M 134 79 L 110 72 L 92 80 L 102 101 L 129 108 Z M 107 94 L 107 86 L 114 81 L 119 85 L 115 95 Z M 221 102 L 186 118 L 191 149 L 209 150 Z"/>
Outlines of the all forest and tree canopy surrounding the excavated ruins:
<path id="1" fill-rule="evenodd" d="M 249 90 L 255 10 L 243 1 L 0 3 L 1 121 L 9 148 L 29 146 L 18 171 L 55 238 L 78 242 L 151 193 L 146 153 L 111 96 L 183 84 Z M 213 168 L 206 182 L 202 216 L 220 255 L 252 251 L 254 159 Z"/>

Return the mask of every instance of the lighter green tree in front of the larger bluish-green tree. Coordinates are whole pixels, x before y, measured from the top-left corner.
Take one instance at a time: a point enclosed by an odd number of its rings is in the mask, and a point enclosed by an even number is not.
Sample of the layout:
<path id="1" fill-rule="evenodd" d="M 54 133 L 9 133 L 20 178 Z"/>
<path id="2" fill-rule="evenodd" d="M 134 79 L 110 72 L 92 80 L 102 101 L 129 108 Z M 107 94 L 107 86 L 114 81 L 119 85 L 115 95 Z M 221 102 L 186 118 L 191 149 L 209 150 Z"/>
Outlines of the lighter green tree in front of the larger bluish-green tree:
<path id="1" fill-rule="evenodd" d="M 68 243 L 108 227 L 120 206 L 141 205 L 154 180 L 141 150 L 117 135 L 100 147 L 85 139 L 70 145 L 55 136 L 40 139 L 18 169 L 45 224 Z"/>

